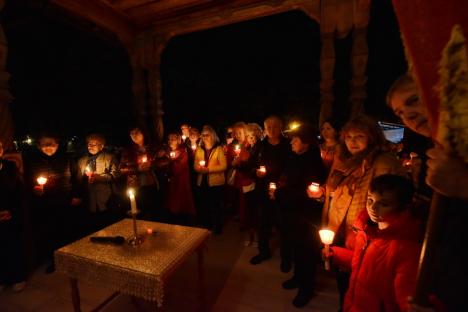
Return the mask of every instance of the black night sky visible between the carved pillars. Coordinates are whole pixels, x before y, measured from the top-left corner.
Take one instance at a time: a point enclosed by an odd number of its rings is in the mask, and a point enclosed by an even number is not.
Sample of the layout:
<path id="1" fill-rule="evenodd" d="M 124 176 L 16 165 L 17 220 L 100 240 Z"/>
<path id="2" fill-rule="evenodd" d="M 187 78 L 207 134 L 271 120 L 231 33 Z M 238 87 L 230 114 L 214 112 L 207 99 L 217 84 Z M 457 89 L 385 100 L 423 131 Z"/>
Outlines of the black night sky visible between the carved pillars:
<path id="1" fill-rule="evenodd" d="M 17 135 L 47 125 L 66 136 L 98 130 L 125 142 L 133 121 L 125 50 L 48 7 L 13 3 L 7 2 L 1 22 L 9 41 Z M 319 31 L 315 21 L 294 11 L 174 38 L 161 68 L 167 130 L 181 122 L 218 128 L 259 122 L 270 113 L 316 122 Z M 368 38 L 366 109 L 391 119 L 385 91 L 404 72 L 405 60 L 390 0 L 373 1 Z M 350 39 L 336 42 L 339 108 L 349 93 Z"/>

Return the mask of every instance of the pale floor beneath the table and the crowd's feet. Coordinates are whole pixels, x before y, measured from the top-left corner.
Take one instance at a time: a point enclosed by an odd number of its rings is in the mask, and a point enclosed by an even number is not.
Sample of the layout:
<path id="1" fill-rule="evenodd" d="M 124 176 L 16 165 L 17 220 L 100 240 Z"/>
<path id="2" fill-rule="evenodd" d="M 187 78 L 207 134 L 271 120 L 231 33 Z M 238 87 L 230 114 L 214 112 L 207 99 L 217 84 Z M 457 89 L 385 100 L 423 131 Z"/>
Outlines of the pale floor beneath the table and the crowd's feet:
<path id="1" fill-rule="evenodd" d="M 238 224 L 229 222 L 224 233 L 210 238 L 205 259 L 207 303 L 209 311 L 295 311 L 291 304 L 294 290 L 283 290 L 281 282 L 290 274 L 279 271 L 277 254 L 260 265 L 248 260 L 256 248 L 244 247 Z M 0 293 L 1 312 L 67 312 L 72 311 L 70 289 L 65 276 L 43 273 L 39 268 L 29 278 L 26 289 L 14 293 L 7 288 Z M 82 311 L 92 311 L 113 291 L 80 282 Z M 332 276 L 319 269 L 316 297 L 303 311 L 337 311 L 338 294 Z M 131 312 L 155 310 L 143 300 L 120 295 L 102 311 Z M 161 311 L 200 311 L 198 304 L 197 259 L 192 256 L 166 285 Z"/>

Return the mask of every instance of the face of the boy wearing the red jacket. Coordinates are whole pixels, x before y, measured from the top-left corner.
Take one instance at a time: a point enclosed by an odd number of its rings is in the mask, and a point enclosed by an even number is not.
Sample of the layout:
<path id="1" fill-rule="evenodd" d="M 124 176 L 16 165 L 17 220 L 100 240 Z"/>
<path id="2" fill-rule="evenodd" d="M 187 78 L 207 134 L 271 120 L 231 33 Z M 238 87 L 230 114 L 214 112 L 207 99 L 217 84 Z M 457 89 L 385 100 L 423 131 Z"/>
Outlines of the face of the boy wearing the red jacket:
<path id="1" fill-rule="evenodd" d="M 393 192 L 383 192 L 382 194 L 369 191 L 367 193 L 367 213 L 370 219 L 375 222 L 388 221 L 388 216 L 400 209 L 400 202 Z"/>

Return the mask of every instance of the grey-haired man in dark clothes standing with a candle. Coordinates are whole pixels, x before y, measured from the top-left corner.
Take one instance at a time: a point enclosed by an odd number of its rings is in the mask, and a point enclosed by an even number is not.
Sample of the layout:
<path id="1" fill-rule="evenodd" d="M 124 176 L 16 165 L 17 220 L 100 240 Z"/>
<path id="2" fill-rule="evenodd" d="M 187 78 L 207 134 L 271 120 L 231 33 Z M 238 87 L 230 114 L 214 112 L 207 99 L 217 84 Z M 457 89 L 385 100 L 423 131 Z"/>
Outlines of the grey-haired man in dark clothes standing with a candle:
<path id="1" fill-rule="evenodd" d="M 255 188 L 258 189 L 258 250 L 259 253 L 250 259 L 250 263 L 257 265 L 271 258 L 270 237 L 273 226 L 283 233 L 283 223 L 280 209 L 276 201 L 270 200 L 268 186 L 271 182 L 278 183 L 280 175 L 291 156 L 288 140 L 283 136 L 283 121 L 280 117 L 272 115 L 265 119 L 264 129 L 266 138 L 261 141 L 256 156 L 255 168 L 265 166 L 265 171 L 256 170 Z M 281 238 L 280 238 L 281 240 Z M 291 257 L 280 246 L 281 271 L 291 269 Z"/>

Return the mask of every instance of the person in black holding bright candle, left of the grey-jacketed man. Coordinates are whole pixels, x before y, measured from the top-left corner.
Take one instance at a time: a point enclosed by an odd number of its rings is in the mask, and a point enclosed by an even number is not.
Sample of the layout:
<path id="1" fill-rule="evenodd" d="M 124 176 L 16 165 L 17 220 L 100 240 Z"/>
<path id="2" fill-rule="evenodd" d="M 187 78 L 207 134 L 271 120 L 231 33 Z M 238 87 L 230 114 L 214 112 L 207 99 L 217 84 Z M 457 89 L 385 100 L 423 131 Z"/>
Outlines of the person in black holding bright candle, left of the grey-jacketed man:
<path id="1" fill-rule="evenodd" d="M 59 146 L 59 137 L 42 132 L 37 149 L 24 154 L 24 177 L 30 197 L 36 261 L 54 271 L 53 252 L 78 236 L 81 200 L 73 162 Z"/>

